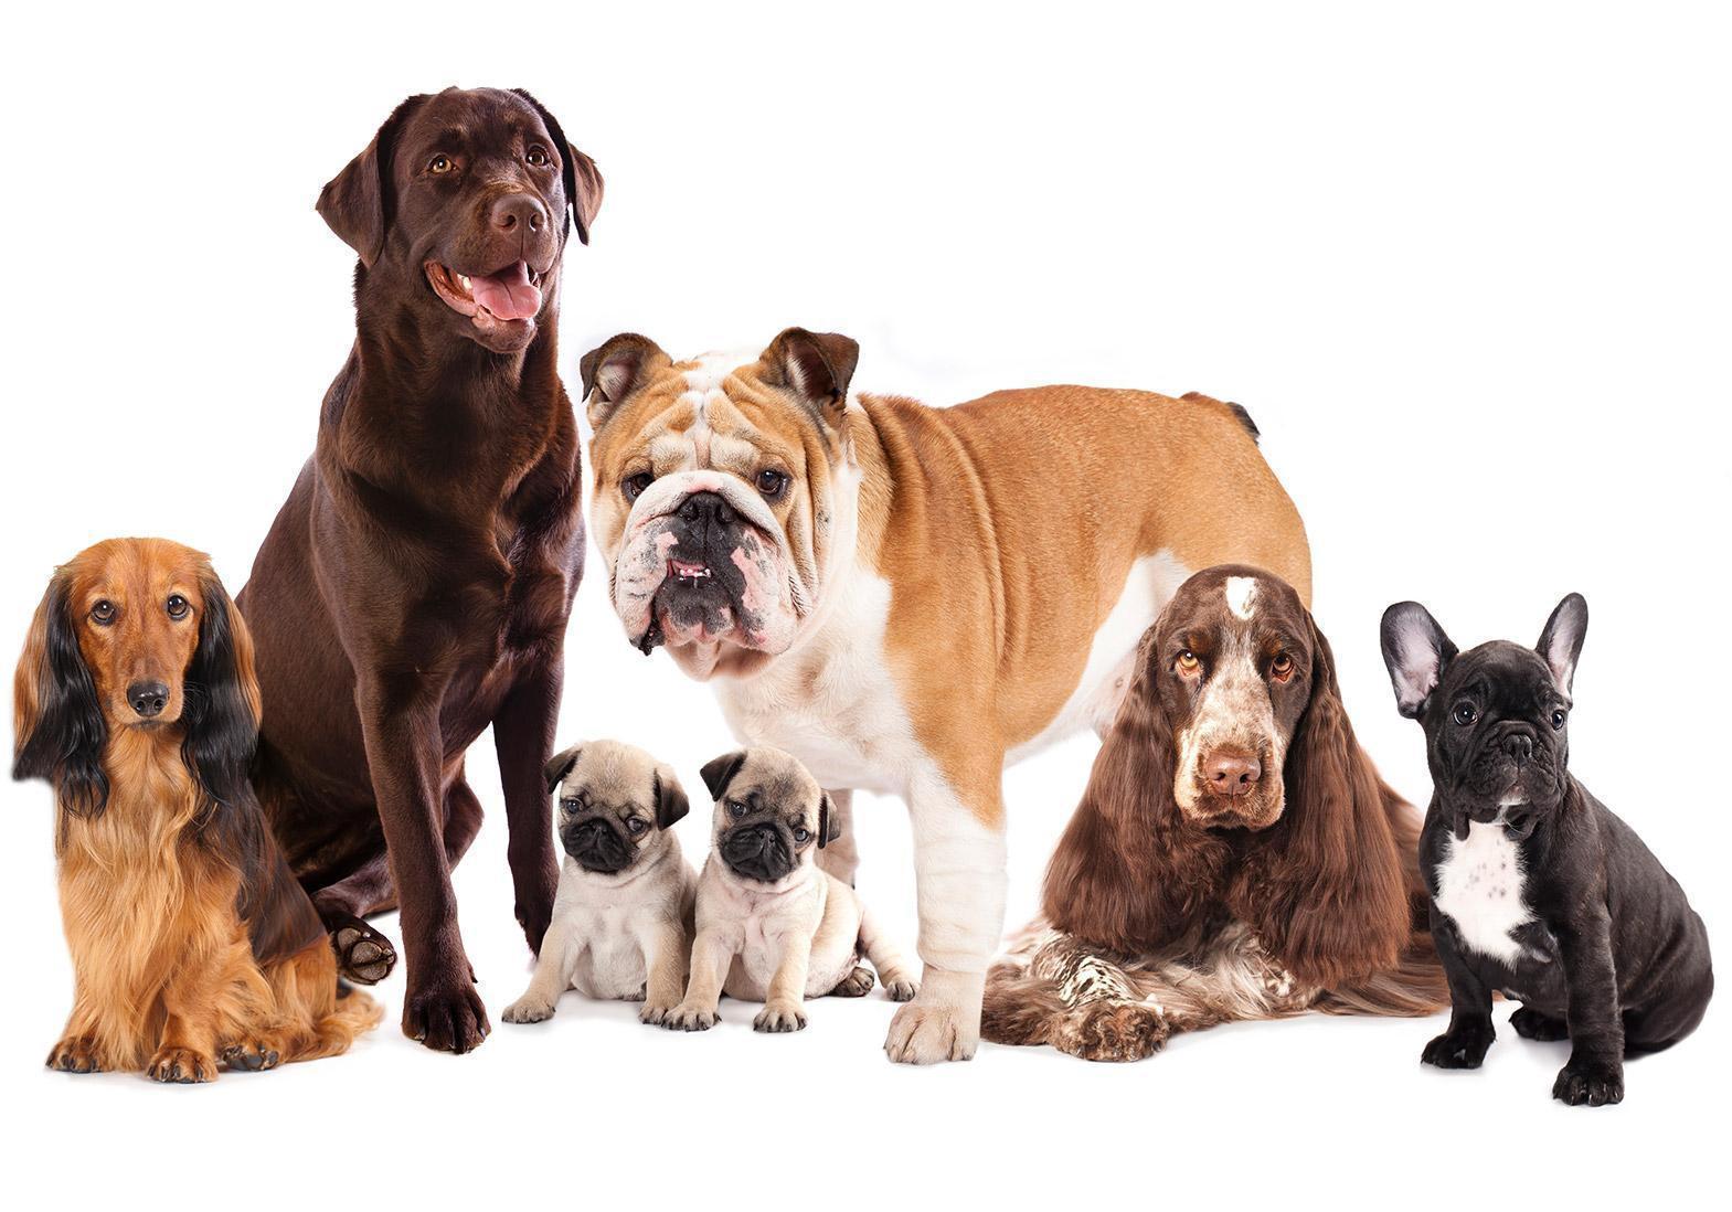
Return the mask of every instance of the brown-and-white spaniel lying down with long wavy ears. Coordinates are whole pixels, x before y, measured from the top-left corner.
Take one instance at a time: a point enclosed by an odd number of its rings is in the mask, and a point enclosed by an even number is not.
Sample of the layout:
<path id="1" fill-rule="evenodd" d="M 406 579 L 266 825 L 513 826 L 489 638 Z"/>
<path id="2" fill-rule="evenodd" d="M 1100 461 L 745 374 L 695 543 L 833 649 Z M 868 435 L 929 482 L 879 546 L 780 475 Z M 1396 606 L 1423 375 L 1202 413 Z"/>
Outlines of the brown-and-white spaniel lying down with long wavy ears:
<path id="1" fill-rule="evenodd" d="M 1292 587 L 1200 571 L 1143 635 L 984 1034 L 1124 1061 L 1230 1020 L 1429 1015 L 1417 841 Z"/>

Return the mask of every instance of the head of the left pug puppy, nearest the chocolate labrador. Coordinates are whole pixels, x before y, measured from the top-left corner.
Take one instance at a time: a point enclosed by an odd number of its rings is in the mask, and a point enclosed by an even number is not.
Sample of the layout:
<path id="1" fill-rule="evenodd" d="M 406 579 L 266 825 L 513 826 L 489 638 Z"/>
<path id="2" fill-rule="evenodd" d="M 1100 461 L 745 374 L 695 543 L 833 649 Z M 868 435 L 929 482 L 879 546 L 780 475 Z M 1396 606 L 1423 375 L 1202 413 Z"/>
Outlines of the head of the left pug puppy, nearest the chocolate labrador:
<path id="1" fill-rule="evenodd" d="M 546 776 L 559 800 L 559 845 L 591 874 L 644 866 L 689 810 L 674 770 L 634 745 L 575 745 L 547 762 Z"/>

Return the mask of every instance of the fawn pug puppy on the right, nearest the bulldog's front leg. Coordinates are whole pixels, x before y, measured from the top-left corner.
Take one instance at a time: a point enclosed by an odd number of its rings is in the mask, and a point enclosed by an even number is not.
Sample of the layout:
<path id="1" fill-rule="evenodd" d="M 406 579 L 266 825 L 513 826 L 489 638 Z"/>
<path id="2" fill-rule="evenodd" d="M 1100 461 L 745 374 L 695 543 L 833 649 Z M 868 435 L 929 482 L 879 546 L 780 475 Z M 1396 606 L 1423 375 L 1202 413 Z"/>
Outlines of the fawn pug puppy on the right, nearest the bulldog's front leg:
<path id="1" fill-rule="evenodd" d="M 800 1030 L 807 997 L 871 990 L 863 952 L 892 1001 L 920 992 L 854 888 L 818 866 L 840 836 L 840 814 L 798 760 L 769 746 L 727 753 L 703 767 L 703 784 L 715 800 L 714 843 L 698 878 L 691 983 L 665 1027 L 708 1030 L 726 992 L 764 1002 L 753 1028 Z"/>

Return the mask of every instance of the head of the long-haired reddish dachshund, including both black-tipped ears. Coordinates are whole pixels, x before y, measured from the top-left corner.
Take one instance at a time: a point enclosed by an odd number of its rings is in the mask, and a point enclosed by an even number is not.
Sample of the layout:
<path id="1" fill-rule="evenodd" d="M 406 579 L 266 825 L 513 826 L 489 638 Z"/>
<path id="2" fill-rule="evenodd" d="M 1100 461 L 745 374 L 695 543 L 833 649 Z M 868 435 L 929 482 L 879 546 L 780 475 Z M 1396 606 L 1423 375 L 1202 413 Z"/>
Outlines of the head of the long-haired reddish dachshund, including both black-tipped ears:
<path id="1" fill-rule="evenodd" d="M 12 774 L 99 812 L 109 738 L 163 732 L 230 803 L 258 715 L 253 641 L 210 559 L 163 538 L 111 538 L 61 566 L 36 606 L 14 682 Z"/>

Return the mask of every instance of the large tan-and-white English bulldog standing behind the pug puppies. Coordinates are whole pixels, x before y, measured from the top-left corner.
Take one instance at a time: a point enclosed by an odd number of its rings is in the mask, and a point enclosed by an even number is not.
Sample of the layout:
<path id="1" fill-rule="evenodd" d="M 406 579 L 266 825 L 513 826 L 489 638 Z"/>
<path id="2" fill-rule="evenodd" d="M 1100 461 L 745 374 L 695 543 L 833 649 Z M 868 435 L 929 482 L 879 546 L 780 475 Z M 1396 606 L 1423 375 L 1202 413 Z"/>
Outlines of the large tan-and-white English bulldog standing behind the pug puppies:
<path id="1" fill-rule="evenodd" d="M 1309 604 L 1311 556 L 1237 405 L 1050 386 L 932 409 L 854 395 L 857 357 L 805 329 L 743 357 L 591 350 L 592 533 L 625 637 L 828 791 L 828 871 L 852 880 L 856 788 L 908 802 L 925 973 L 885 1051 L 968 1060 L 1005 764 L 1112 724 L 1193 571 L 1254 564 Z"/>

